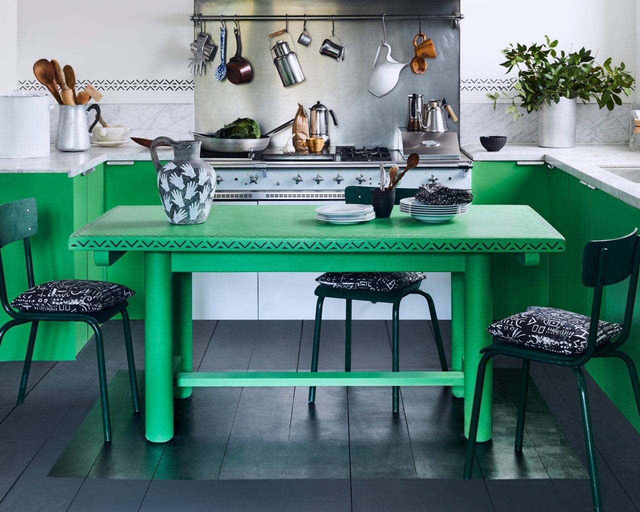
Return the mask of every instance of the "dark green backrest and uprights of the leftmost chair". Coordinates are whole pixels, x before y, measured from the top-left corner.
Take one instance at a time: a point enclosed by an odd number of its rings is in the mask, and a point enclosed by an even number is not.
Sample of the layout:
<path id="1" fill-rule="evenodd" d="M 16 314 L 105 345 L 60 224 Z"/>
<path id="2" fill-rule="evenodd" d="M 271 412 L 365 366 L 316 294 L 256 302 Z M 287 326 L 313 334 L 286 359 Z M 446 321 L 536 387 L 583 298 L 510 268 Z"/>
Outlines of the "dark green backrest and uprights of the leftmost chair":
<path id="1" fill-rule="evenodd" d="M 27 285 L 34 286 L 33 260 L 31 259 L 30 238 L 38 232 L 38 209 L 36 200 L 31 197 L 0 205 L 0 249 L 10 243 L 22 240 L 26 262 Z M 13 271 L 13 269 L 12 269 Z M 9 306 L 2 252 L 0 251 L 0 305 L 10 316 L 15 316 Z"/>

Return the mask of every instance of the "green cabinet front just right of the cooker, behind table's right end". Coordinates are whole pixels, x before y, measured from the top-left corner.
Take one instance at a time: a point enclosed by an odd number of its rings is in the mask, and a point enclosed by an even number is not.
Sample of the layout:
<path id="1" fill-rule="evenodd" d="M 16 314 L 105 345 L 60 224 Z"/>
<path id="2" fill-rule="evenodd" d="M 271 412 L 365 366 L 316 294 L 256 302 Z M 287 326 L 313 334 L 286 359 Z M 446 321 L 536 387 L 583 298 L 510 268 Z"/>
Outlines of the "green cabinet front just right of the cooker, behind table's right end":
<path id="1" fill-rule="evenodd" d="M 476 162 L 472 171 L 474 204 L 524 204 L 545 219 L 549 212 L 549 173 L 543 162 Z M 555 227 L 555 225 L 554 225 Z M 563 233 L 563 230 L 559 230 Z M 492 257 L 493 318 L 500 319 L 531 305 L 546 305 L 550 256 L 524 267 L 510 254 Z"/>

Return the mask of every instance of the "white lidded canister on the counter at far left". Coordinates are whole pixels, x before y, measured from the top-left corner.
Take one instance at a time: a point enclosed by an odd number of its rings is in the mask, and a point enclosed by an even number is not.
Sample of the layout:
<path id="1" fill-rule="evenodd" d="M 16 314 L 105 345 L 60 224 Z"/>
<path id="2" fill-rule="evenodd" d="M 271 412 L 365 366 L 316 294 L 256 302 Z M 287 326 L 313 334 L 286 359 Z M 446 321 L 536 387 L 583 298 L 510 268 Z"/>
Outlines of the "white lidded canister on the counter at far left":
<path id="1" fill-rule="evenodd" d="M 0 95 L 0 158 L 49 156 L 49 97 Z"/>

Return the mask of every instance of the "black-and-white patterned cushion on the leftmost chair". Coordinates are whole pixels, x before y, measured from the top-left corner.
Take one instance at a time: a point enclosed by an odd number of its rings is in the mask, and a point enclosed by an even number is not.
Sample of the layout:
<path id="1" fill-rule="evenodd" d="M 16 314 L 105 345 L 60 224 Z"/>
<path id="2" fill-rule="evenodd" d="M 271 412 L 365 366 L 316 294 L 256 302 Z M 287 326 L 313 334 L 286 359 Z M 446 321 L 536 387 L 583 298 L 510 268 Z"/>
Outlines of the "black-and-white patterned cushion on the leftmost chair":
<path id="1" fill-rule="evenodd" d="M 11 305 L 26 312 L 84 313 L 113 307 L 134 293 L 121 284 L 65 279 L 29 288 Z"/>

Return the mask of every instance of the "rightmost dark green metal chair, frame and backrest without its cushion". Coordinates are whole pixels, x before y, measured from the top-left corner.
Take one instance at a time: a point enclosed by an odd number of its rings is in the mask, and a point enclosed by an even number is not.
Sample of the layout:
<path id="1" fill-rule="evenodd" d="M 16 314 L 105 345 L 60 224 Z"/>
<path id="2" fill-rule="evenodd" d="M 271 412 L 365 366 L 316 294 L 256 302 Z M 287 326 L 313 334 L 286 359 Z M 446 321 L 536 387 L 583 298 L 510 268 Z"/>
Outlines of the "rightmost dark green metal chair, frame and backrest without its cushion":
<path id="1" fill-rule="evenodd" d="M 600 496 L 600 484 L 598 482 L 598 468 L 596 466 L 596 452 L 593 441 L 593 430 L 591 428 L 591 415 L 589 413 L 589 399 L 587 387 L 582 372 L 584 366 L 591 358 L 616 357 L 620 358 L 627 365 L 631 385 L 636 397 L 636 405 L 640 413 L 640 383 L 636 371 L 636 365 L 626 353 L 619 351 L 620 346 L 627 340 L 631 328 L 631 321 L 634 312 L 634 301 L 636 300 L 636 289 L 638 281 L 638 268 L 640 266 L 640 236 L 637 229 L 631 234 L 612 240 L 591 241 L 584 247 L 582 255 L 582 284 L 593 288 L 593 303 L 591 305 L 591 317 L 589 319 L 589 334 L 586 342 L 586 349 L 573 355 L 562 355 L 551 353 L 540 348 L 529 348 L 506 342 L 495 340 L 495 342 L 481 350 L 483 356 L 480 360 L 476 377 L 476 390 L 474 393 L 474 404 L 471 413 L 469 428 L 469 438 L 467 443 L 467 459 L 463 477 L 471 477 L 474 452 L 476 449 L 476 436 L 478 428 L 478 417 L 482 400 L 484 385 L 484 375 L 486 365 L 493 356 L 506 355 L 522 359 L 522 376 L 520 378 L 520 399 L 518 404 L 518 420 L 516 424 L 515 450 L 522 451 L 522 438 L 524 435 L 525 410 L 527 407 L 527 387 L 529 385 L 529 365 L 531 361 L 541 363 L 566 366 L 572 369 L 577 380 L 580 395 L 580 406 L 582 409 L 582 428 L 587 451 L 589 466 L 589 477 L 591 479 L 591 495 L 593 498 L 593 509 L 602 511 L 602 499 Z M 607 285 L 619 283 L 629 279 L 627 291 L 627 303 L 622 323 L 621 332 L 612 339 L 598 341 L 598 321 L 600 321 L 600 306 L 602 304 L 602 290 Z"/>

